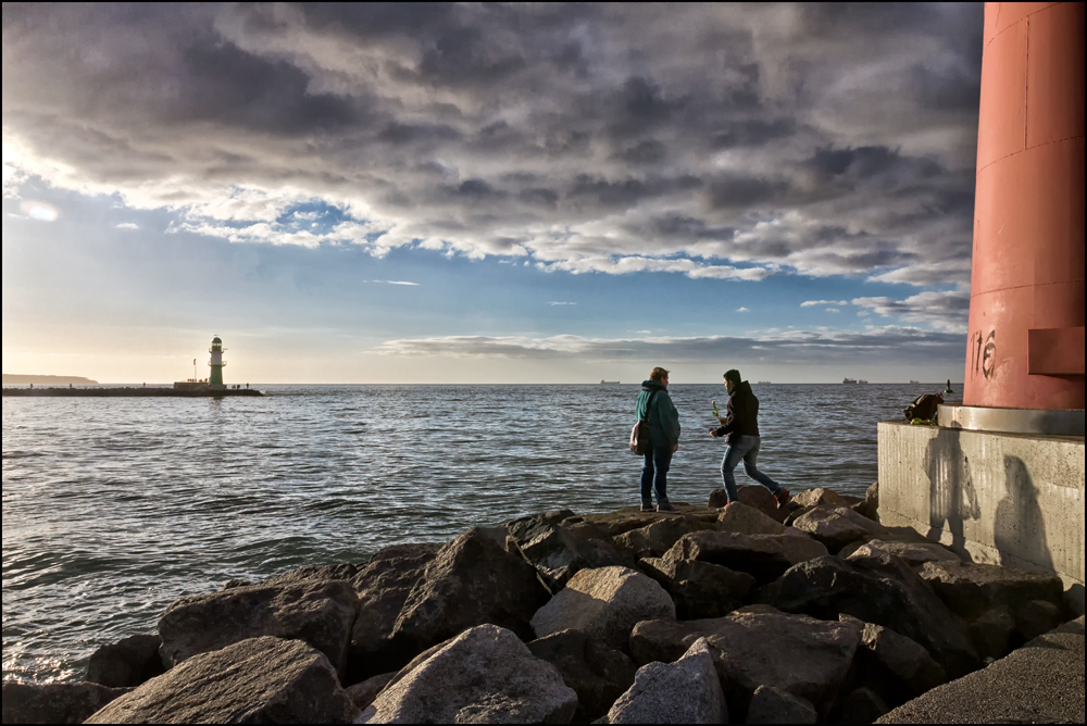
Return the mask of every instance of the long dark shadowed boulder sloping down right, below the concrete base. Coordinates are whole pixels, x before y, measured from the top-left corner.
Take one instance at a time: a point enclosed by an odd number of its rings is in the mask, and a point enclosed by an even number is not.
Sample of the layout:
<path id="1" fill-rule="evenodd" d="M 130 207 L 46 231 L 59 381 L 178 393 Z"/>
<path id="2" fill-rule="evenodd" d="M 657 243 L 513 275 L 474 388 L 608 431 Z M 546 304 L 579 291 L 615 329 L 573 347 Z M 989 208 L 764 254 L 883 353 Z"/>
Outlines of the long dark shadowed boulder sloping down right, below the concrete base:
<path id="1" fill-rule="evenodd" d="M 760 599 L 823 619 L 852 615 L 911 638 L 957 678 L 978 665 L 966 624 L 904 562 L 891 554 L 824 556 L 790 567 Z"/>

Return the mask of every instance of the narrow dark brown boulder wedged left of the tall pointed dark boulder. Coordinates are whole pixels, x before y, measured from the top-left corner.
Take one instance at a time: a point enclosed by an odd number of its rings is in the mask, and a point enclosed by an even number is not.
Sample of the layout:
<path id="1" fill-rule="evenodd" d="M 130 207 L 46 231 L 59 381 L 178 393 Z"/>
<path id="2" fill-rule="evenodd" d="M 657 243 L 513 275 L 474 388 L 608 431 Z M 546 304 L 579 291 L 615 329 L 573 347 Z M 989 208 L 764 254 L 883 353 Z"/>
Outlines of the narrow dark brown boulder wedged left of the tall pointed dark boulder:
<path id="1" fill-rule="evenodd" d="M 379 550 L 351 579 L 359 596 L 359 616 L 351 629 L 348 683 L 398 669 L 414 653 L 392 647 L 392 629 L 412 588 L 437 555 L 440 544 L 395 544 Z"/>

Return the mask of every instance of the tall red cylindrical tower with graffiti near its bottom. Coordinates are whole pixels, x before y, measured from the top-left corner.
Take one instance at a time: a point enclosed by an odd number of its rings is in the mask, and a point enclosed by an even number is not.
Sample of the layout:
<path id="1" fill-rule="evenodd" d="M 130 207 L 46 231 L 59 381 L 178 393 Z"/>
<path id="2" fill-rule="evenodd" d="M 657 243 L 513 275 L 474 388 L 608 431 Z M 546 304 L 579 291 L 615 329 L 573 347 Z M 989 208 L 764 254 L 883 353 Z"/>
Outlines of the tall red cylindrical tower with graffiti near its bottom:
<path id="1" fill-rule="evenodd" d="M 963 403 L 1084 408 L 1084 5 L 988 2 Z"/>

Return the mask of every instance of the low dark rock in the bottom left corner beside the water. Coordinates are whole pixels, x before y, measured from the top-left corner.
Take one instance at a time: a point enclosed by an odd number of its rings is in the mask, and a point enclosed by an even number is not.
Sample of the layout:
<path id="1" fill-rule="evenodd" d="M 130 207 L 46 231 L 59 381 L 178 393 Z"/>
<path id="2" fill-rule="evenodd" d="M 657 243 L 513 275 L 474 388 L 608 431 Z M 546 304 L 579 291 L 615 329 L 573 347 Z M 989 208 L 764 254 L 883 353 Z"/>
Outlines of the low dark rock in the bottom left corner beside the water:
<path id="1" fill-rule="evenodd" d="M 82 724 L 129 688 L 107 688 L 87 681 L 76 684 L 3 685 L 5 724 Z"/>

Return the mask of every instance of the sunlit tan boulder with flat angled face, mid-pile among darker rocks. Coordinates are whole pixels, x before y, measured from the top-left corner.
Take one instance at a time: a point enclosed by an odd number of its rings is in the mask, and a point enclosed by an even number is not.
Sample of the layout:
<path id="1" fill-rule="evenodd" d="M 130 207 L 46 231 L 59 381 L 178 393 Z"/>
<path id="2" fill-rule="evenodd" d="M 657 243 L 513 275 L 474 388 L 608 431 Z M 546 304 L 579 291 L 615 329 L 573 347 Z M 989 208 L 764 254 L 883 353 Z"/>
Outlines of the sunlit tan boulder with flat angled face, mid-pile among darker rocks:
<path id="1" fill-rule="evenodd" d="M 658 583 L 629 567 L 583 569 L 532 618 L 536 637 L 570 628 L 625 650 L 639 621 L 675 619 L 672 598 Z"/>

